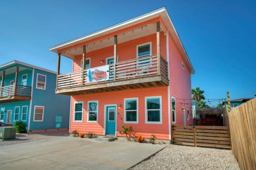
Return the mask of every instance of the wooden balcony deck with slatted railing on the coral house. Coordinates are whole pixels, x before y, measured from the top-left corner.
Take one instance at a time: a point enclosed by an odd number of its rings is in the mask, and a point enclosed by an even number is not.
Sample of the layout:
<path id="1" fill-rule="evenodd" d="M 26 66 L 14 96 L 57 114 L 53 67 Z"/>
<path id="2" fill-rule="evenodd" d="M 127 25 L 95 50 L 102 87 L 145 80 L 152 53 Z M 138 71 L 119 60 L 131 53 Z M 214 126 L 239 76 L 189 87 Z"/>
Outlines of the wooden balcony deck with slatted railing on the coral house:
<path id="1" fill-rule="evenodd" d="M 167 62 L 157 55 L 109 64 L 107 81 L 88 83 L 87 71 L 58 75 L 55 92 L 63 95 L 82 95 L 169 85 Z"/>

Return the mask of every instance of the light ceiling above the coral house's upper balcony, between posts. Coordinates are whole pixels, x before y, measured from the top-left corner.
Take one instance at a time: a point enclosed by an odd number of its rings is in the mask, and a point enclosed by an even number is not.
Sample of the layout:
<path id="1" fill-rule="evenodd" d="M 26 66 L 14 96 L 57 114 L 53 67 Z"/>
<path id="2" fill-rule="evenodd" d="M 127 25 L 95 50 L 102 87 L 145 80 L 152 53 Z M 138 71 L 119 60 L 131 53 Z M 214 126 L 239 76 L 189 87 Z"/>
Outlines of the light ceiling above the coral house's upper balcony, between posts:
<path id="1" fill-rule="evenodd" d="M 127 32 L 123 32 L 117 35 L 117 44 L 124 43 L 125 41 L 144 37 L 147 35 L 151 35 L 152 33 L 155 33 L 155 32 L 156 32 L 156 23 L 145 25 L 144 27 L 140 27 L 134 30 L 129 30 Z M 86 53 L 91 52 L 93 50 L 101 49 L 104 47 L 109 47 L 112 45 L 114 45 L 114 37 L 109 37 L 106 39 L 95 41 L 91 44 L 86 45 Z M 75 56 L 81 55 L 82 53 L 83 53 L 83 47 L 81 46 L 81 47 L 76 47 L 70 50 L 66 50 L 65 52 L 62 52 L 61 55 L 74 59 Z"/>

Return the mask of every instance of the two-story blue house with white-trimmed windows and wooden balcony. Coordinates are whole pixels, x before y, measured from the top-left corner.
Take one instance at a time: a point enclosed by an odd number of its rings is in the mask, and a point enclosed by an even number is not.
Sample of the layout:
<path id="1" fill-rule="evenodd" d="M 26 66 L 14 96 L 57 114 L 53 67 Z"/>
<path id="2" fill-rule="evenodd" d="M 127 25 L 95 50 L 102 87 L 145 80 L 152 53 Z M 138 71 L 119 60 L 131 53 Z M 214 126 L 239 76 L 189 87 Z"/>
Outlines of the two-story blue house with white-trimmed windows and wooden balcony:
<path id="1" fill-rule="evenodd" d="M 23 121 L 29 132 L 69 128 L 70 97 L 55 94 L 56 73 L 12 61 L 0 66 L 0 121 Z"/>

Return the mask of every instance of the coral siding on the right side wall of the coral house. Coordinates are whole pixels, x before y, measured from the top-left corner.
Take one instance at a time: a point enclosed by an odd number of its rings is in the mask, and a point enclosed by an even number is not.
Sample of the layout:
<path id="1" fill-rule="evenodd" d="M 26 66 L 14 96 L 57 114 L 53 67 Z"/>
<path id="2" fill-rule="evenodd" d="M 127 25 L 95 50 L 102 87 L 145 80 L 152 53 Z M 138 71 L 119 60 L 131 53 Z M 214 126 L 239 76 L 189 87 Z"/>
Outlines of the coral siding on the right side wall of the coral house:
<path id="1" fill-rule="evenodd" d="M 182 68 L 181 62 L 183 62 L 185 65 L 185 69 Z M 193 123 L 191 108 L 191 76 L 188 70 L 188 66 L 182 59 L 170 36 L 169 67 L 170 96 L 176 99 L 176 125 L 183 125 L 182 107 L 186 108 L 186 125 L 190 125 Z M 183 105 L 183 99 L 185 99 L 185 105 Z M 182 105 L 180 103 L 182 103 Z M 189 109 L 189 120 L 187 120 L 187 108 Z"/>

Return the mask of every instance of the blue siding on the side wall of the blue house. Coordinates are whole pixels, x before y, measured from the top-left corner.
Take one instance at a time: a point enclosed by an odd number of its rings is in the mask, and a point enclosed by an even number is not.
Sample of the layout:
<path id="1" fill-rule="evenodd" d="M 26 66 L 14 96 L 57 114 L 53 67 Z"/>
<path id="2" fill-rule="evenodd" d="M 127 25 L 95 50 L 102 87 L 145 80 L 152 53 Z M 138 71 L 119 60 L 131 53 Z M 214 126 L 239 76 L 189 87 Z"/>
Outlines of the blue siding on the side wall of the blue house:
<path id="1" fill-rule="evenodd" d="M 37 73 L 46 75 L 46 89 L 36 88 Z M 34 87 L 31 106 L 30 130 L 57 129 L 55 116 L 61 116 L 60 128 L 69 127 L 70 97 L 55 94 L 56 75 L 35 69 Z M 44 117 L 42 122 L 34 121 L 35 106 L 44 106 Z"/>

